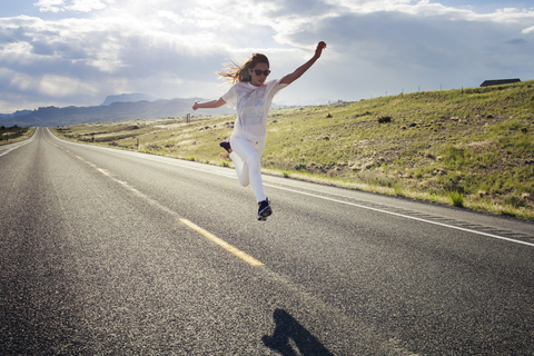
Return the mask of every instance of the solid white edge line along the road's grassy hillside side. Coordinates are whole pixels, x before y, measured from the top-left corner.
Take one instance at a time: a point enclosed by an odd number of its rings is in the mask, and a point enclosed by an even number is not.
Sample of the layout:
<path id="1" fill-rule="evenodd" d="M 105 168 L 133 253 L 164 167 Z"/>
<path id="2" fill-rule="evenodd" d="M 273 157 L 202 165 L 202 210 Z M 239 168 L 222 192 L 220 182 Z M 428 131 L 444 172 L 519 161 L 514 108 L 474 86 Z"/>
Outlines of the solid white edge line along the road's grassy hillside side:
<path id="1" fill-rule="evenodd" d="M 52 136 L 53 136 L 53 137 L 57 137 L 57 136 L 53 135 L 53 134 L 52 134 Z M 70 142 L 70 141 L 66 141 L 66 142 L 75 144 L 75 145 L 77 144 L 77 142 Z M 78 144 L 78 145 L 81 145 L 81 144 Z M 100 149 L 112 149 L 112 148 L 106 148 L 106 147 L 99 147 L 99 146 L 88 146 L 88 145 L 83 145 L 83 146 L 85 146 L 85 147 L 96 147 L 96 148 L 100 148 Z M 229 176 L 229 175 L 225 175 L 225 174 L 221 174 L 221 172 L 216 172 L 216 171 L 208 170 L 208 169 L 196 168 L 196 167 L 191 167 L 191 166 L 187 166 L 187 165 L 180 165 L 179 162 L 169 162 L 167 159 L 158 159 L 158 158 L 162 158 L 162 157 L 150 157 L 150 156 L 144 157 L 144 156 L 141 156 L 141 155 L 136 155 L 136 154 L 138 154 L 138 152 L 134 152 L 134 151 L 121 151 L 121 150 L 118 150 L 118 149 L 112 149 L 112 150 L 113 150 L 113 151 L 117 151 L 117 152 L 125 154 L 125 155 L 131 155 L 131 156 L 136 156 L 136 157 L 142 157 L 142 158 L 146 158 L 146 159 L 150 159 L 150 160 L 158 161 L 158 162 L 162 162 L 162 164 L 167 164 L 167 165 L 178 166 L 178 167 L 182 167 L 182 168 L 189 168 L 189 169 L 194 169 L 194 170 L 198 170 L 198 171 L 208 172 L 208 174 L 211 174 L 211 175 L 217 175 L 217 176 L 222 176 L 222 177 L 228 177 L 228 178 L 237 179 L 237 177 L 235 177 L 235 176 Z M 170 158 L 169 158 L 169 159 L 170 159 Z M 432 225 L 437 225 L 437 226 L 442 226 L 442 227 L 447 227 L 447 228 L 451 228 L 451 229 L 456 229 L 456 230 L 461 230 L 461 231 L 465 231 L 465 233 L 472 233 L 472 234 L 476 234 L 476 235 L 487 236 L 487 237 L 492 237 L 492 238 L 495 238 L 495 239 L 505 240 L 505 241 L 508 241 L 508 243 L 515 243 L 515 244 L 521 244 L 521 245 L 526 245 L 526 246 L 534 247 L 534 244 L 533 244 L 533 243 L 516 240 L 516 239 L 508 238 L 508 237 L 504 237 L 504 236 L 498 236 L 498 235 L 482 233 L 482 231 L 472 230 L 472 229 L 466 229 L 466 228 L 458 227 L 458 226 L 454 226 L 454 225 L 448 225 L 448 224 L 436 222 L 436 221 L 426 220 L 426 219 L 422 219 L 422 218 L 416 218 L 416 217 L 408 216 L 408 215 L 404 215 L 404 214 L 392 212 L 392 211 L 387 211 L 387 210 L 383 210 L 383 209 L 366 207 L 366 206 L 364 206 L 364 205 L 358 205 L 358 204 L 355 204 L 355 202 L 348 202 L 348 201 L 343 201 L 343 200 L 338 200 L 338 199 L 334 199 L 334 198 L 328 198 L 328 197 L 318 196 L 318 195 L 310 194 L 310 192 L 304 192 L 304 191 L 298 191 L 298 190 L 295 190 L 295 189 L 283 188 L 283 187 L 269 185 L 269 184 L 266 184 L 266 182 L 264 182 L 264 186 L 265 186 L 265 187 L 276 188 L 276 189 L 279 189 L 279 190 L 286 190 L 286 191 L 290 191 L 290 192 L 295 192 L 295 194 L 299 194 L 299 195 L 304 195 L 304 196 L 309 196 L 309 197 L 314 197 L 314 198 L 318 198 L 318 199 L 323 199 L 323 200 L 329 200 L 329 201 L 333 201 L 333 202 L 349 205 L 349 206 L 357 207 L 357 208 L 362 208 L 362 209 L 367 209 L 367 210 L 373 210 L 373 211 L 377 211 L 377 212 L 394 215 L 394 216 L 398 216 L 398 217 L 402 217 L 402 218 L 405 218 L 405 219 L 412 219 L 412 220 L 416 220 L 416 221 L 421 221 L 421 222 L 426 222 L 426 224 L 432 224 Z"/>

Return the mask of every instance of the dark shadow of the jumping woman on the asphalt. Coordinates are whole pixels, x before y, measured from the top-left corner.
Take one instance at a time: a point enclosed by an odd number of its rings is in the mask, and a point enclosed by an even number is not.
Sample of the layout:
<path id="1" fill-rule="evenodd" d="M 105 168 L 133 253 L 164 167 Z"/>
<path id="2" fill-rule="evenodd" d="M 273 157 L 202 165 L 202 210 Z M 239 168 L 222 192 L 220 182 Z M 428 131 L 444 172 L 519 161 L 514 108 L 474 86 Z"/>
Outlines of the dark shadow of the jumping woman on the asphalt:
<path id="1" fill-rule="evenodd" d="M 266 335 L 261 338 L 265 346 L 284 356 L 296 356 L 298 354 L 289 344 L 291 338 L 300 355 L 333 355 L 287 312 L 276 309 L 273 318 L 275 319 L 276 328 L 273 336 Z"/>

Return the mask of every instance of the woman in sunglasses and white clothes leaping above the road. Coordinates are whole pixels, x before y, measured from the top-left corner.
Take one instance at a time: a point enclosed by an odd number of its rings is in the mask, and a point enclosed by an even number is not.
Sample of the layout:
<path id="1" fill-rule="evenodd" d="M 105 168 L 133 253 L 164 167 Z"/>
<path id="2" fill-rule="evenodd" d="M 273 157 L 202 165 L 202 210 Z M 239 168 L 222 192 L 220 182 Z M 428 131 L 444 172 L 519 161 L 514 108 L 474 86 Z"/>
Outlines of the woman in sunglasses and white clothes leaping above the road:
<path id="1" fill-rule="evenodd" d="M 325 48 L 326 43 L 319 42 L 310 60 L 293 73 L 270 81 L 266 81 L 270 73 L 269 60 L 264 55 L 255 53 L 245 65 L 234 63 L 227 72 L 219 73 L 234 83 L 222 97 L 206 102 L 197 101 L 192 106 L 194 110 L 219 108 L 225 103 L 237 107 L 234 132 L 230 140 L 220 142 L 220 146 L 230 154 L 239 182 L 244 187 L 249 184 L 253 186 L 259 205 L 258 220 L 266 220 L 273 214 L 264 194 L 260 167 L 273 98 L 278 91 L 300 78 L 320 58 Z"/>

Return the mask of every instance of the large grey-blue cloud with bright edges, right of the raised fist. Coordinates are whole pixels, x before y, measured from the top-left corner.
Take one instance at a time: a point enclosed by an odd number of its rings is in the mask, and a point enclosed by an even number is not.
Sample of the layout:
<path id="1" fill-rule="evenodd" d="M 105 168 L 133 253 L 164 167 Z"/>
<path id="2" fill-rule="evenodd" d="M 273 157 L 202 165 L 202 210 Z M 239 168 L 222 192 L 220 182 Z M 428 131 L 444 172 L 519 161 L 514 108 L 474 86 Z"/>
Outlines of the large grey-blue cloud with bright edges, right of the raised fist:
<path id="1" fill-rule="evenodd" d="M 276 2 L 278 6 L 283 2 Z M 277 41 L 301 47 L 320 38 L 335 51 L 337 62 L 357 68 L 379 68 L 374 81 L 413 82 L 436 78 L 459 87 L 465 78 L 484 72 L 525 72 L 525 53 L 511 52 L 505 44 L 532 23 L 534 12 L 502 9 L 479 14 L 428 1 L 330 1 L 325 12 L 299 18 L 291 8 L 278 8 L 273 18 Z M 286 11 L 287 10 L 287 11 Z M 286 21 L 290 20 L 290 24 Z M 525 32 L 525 31 L 523 31 Z M 528 50 L 532 53 L 532 47 Z M 506 53 L 506 60 L 503 59 Z M 328 52 L 327 55 L 328 56 Z M 496 66 L 495 61 L 500 63 Z M 337 73 L 339 80 L 343 75 Z M 415 79 L 415 80 L 414 80 Z M 412 85 L 413 86 L 413 85 Z"/>

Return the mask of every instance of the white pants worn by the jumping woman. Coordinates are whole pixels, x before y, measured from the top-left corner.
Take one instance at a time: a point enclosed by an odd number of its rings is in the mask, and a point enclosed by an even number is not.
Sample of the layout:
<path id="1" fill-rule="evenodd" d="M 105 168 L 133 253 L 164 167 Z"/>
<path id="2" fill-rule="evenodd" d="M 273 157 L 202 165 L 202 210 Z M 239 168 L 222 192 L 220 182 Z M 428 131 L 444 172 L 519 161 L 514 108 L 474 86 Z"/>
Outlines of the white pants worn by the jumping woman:
<path id="1" fill-rule="evenodd" d="M 253 186 L 254 195 L 258 202 L 264 201 L 264 184 L 261 181 L 261 156 L 264 156 L 265 141 L 247 140 L 246 138 L 231 136 L 230 146 L 233 152 L 230 159 L 236 167 L 237 179 L 241 186 Z"/>

